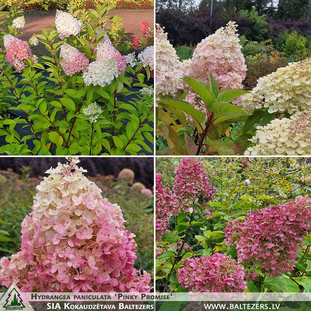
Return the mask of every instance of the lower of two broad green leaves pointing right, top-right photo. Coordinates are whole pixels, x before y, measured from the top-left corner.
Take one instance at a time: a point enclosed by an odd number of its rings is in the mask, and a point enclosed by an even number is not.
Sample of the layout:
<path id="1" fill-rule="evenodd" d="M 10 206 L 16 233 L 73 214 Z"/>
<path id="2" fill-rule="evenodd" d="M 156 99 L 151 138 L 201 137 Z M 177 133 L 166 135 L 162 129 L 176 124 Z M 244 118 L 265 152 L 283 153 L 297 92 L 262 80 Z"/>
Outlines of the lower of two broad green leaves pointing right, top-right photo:
<path id="1" fill-rule="evenodd" d="M 234 120 L 234 118 L 240 118 L 247 116 L 248 113 L 243 110 L 242 108 L 230 104 L 226 101 L 216 101 L 213 104 L 213 111 L 214 111 L 214 124 Z"/>

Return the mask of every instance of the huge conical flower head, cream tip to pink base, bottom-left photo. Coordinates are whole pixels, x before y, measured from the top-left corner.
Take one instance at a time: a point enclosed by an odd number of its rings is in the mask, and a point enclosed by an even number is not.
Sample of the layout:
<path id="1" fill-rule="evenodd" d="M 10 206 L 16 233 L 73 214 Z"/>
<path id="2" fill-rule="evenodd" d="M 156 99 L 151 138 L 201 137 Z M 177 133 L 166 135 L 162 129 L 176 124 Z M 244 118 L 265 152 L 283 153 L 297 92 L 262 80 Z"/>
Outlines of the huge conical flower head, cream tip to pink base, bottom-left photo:
<path id="1" fill-rule="evenodd" d="M 0 261 L 0 281 L 24 292 L 149 291 L 134 235 L 118 204 L 101 196 L 77 158 L 49 169 L 37 187 L 33 210 L 22 222 L 21 251 Z"/>

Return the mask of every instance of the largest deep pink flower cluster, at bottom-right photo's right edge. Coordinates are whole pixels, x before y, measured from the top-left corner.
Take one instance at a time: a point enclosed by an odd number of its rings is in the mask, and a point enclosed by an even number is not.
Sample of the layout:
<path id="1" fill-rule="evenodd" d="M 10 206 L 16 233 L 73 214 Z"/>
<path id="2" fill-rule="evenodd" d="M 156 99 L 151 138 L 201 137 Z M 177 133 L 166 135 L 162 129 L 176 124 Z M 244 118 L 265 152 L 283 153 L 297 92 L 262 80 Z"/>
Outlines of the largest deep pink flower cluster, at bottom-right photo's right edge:
<path id="1" fill-rule="evenodd" d="M 226 244 L 236 244 L 239 262 L 259 263 L 266 276 L 294 269 L 302 238 L 311 230 L 311 200 L 302 198 L 249 213 L 229 221 Z"/>

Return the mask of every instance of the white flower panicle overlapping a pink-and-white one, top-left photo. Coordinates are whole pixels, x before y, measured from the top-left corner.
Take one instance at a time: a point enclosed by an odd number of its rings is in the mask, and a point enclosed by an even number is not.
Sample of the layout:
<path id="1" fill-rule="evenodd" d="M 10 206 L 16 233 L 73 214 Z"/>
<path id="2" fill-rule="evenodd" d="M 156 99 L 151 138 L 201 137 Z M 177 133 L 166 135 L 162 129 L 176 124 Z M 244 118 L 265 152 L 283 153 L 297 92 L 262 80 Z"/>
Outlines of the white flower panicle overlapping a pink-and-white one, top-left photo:
<path id="1" fill-rule="evenodd" d="M 118 63 L 115 58 L 100 59 L 89 65 L 88 71 L 83 73 L 83 80 L 86 86 L 109 85 L 115 77 L 118 77 Z"/>

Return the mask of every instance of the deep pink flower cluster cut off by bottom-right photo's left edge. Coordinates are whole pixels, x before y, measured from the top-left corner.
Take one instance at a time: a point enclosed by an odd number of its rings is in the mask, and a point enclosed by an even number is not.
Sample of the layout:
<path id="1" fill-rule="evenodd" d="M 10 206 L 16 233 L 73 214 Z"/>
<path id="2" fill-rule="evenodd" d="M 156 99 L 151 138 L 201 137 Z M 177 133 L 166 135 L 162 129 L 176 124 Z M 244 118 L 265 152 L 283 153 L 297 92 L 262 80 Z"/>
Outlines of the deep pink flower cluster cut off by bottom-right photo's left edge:
<path id="1" fill-rule="evenodd" d="M 171 215 L 178 215 L 178 199 L 169 190 L 163 187 L 160 174 L 156 173 L 156 234 L 157 238 L 162 238 L 169 226 Z"/>

